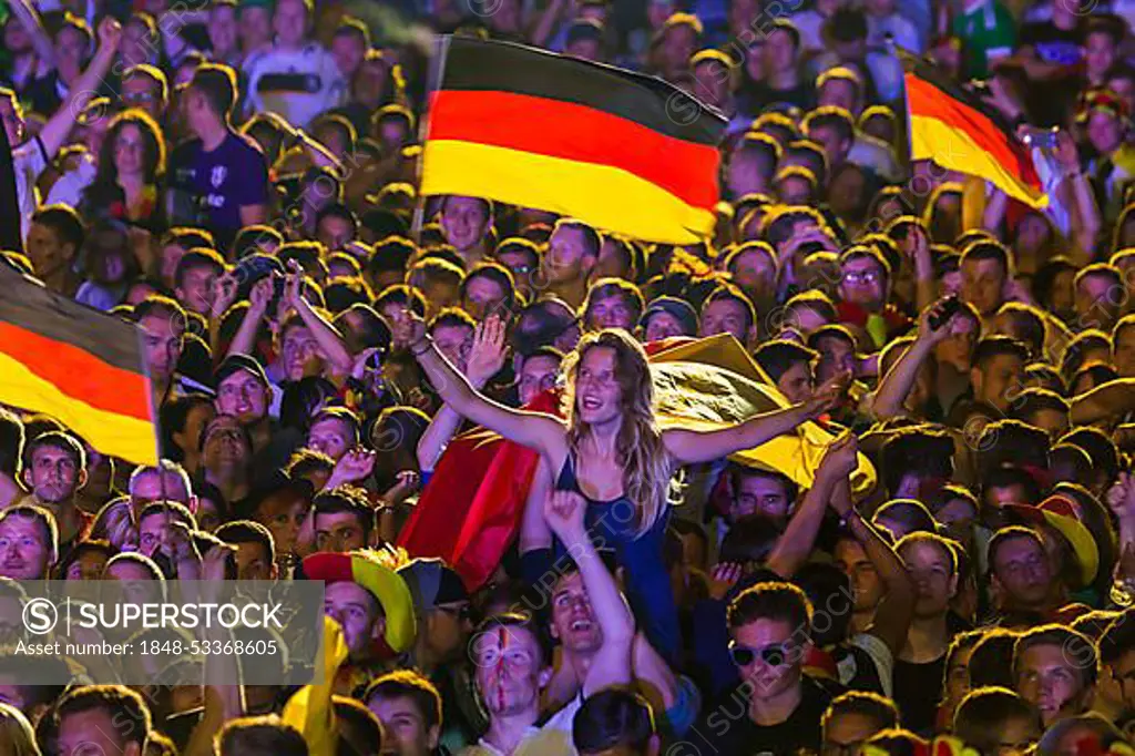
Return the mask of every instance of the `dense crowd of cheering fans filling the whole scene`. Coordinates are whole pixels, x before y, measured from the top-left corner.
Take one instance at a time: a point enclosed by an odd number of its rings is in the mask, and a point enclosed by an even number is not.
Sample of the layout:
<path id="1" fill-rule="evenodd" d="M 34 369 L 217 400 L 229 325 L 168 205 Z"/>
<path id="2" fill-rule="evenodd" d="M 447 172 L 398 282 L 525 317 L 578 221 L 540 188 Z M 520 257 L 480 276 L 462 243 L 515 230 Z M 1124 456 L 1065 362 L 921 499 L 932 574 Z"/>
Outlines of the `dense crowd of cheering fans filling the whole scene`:
<path id="1" fill-rule="evenodd" d="M 0 261 L 137 325 L 163 459 L 0 409 L 0 753 L 1132 753 L 1132 2 L 7 11 Z M 419 198 L 398 14 L 720 110 L 713 237 Z M 907 170 L 894 45 L 999 112 L 1046 207 Z M 661 429 L 647 347 L 718 334 L 783 409 Z M 805 423 L 834 438 L 807 481 L 730 461 Z M 395 544 L 477 426 L 539 462 L 469 585 Z M 30 679 L 20 581 L 49 578 L 325 580 L 334 726 L 286 681 Z"/>

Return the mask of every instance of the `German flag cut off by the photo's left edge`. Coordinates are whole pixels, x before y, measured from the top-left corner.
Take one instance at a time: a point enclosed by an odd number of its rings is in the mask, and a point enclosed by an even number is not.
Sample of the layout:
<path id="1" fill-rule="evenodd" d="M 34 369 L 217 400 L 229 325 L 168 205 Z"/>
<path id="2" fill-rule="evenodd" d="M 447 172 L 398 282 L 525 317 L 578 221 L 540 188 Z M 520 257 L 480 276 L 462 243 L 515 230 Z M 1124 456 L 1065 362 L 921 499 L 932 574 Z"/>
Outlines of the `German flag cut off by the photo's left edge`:
<path id="1" fill-rule="evenodd" d="M 58 419 L 103 454 L 158 462 L 137 328 L 0 266 L 0 404 Z"/>

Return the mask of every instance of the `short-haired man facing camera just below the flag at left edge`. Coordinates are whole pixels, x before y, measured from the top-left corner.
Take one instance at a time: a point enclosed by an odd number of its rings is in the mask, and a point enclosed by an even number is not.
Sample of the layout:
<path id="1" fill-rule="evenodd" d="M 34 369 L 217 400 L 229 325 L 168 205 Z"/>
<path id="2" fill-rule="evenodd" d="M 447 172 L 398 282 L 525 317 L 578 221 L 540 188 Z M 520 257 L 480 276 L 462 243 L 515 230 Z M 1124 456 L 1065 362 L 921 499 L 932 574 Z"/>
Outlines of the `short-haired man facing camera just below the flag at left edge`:
<path id="1" fill-rule="evenodd" d="M 24 485 L 32 493 L 20 503 L 51 512 L 59 529 L 59 552 L 66 557 L 94 523 L 94 515 L 77 504 L 78 490 L 86 485 L 86 452 L 74 437 L 52 430 L 27 443 L 23 462 Z"/>

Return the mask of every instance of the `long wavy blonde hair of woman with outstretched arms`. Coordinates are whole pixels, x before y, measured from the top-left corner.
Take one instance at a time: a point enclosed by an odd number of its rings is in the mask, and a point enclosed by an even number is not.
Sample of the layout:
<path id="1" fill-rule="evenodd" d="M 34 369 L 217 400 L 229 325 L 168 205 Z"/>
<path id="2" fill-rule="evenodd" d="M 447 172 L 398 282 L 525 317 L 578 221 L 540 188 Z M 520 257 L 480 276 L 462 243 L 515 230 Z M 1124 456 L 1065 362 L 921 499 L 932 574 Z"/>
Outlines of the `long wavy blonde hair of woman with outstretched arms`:
<path id="1" fill-rule="evenodd" d="M 588 351 L 605 346 L 615 353 L 615 380 L 619 383 L 622 425 L 615 442 L 617 461 L 623 468 L 623 495 L 634 504 L 636 535 L 648 531 L 663 512 L 670 490 L 673 464 L 662 442 L 654 418 L 654 383 L 646 351 L 623 330 L 589 333 L 569 355 L 568 387 L 564 392 L 568 414 L 568 448 L 578 461 L 583 437 L 588 434 L 575 408 L 575 381 L 579 366 Z"/>

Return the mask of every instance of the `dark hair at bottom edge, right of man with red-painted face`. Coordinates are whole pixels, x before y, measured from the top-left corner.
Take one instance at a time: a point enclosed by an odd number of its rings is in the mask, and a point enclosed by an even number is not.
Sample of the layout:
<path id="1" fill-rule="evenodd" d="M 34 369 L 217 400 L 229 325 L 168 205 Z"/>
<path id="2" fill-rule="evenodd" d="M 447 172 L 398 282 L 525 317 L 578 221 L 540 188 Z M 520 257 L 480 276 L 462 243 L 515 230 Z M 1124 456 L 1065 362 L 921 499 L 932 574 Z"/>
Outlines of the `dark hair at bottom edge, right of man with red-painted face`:
<path id="1" fill-rule="evenodd" d="M 650 704 L 624 688 L 605 688 L 591 694 L 572 720 L 572 742 L 580 756 L 620 746 L 646 753 L 656 732 Z"/>

